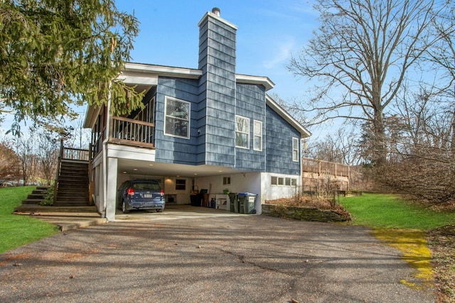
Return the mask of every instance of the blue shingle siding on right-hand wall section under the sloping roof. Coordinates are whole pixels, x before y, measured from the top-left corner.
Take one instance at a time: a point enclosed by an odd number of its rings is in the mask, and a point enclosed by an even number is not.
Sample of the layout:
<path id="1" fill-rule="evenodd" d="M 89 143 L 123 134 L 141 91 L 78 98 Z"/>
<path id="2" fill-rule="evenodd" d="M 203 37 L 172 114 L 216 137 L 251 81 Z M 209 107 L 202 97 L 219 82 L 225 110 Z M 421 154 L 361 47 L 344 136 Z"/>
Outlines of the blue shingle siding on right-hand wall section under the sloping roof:
<path id="1" fill-rule="evenodd" d="M 267 106 L 267 172 L 300 175 L 300 161 L 292 161 L 292 138 L 300 133 Z M 300 159 L 300 155 L 299 155 Z"/>

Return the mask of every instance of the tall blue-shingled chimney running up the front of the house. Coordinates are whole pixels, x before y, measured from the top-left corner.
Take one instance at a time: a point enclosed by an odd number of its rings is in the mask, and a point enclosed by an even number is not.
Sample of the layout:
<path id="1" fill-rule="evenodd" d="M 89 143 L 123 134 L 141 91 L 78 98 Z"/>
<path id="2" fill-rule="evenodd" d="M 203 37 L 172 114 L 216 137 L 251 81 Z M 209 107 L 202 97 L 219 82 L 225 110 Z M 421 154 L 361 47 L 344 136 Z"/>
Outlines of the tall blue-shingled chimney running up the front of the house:
<path id="1" fill-rule="evenodd" d="M 235 31 L 210 16 L 200 23 L 198 164 L 235 166 Z"/>

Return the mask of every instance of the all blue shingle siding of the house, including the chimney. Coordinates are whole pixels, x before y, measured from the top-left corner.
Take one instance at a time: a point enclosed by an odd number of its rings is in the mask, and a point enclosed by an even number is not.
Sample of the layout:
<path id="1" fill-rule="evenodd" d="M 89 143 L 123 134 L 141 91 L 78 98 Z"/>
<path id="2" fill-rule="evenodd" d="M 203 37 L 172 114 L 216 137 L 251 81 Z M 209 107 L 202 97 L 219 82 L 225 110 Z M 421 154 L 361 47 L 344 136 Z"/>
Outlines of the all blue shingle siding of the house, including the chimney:
<path id="1" fill-rule="evenodd" d="M 266 105 L 262 85 L 236 83 L 235 28 L 208 15 L 200 23 L 199 79 L 159 77 L 156 161 L 221 165 L 242 171 L 299 175 L 292 138 L 300 133 Z M 190 138 L 164 136 L 164 102 L 191 104 Z M 235 148 L 235 115 L 250 119 L 250 147 Z M 262 150 L 254 150 L 254 121 L 262 122 Z"/>

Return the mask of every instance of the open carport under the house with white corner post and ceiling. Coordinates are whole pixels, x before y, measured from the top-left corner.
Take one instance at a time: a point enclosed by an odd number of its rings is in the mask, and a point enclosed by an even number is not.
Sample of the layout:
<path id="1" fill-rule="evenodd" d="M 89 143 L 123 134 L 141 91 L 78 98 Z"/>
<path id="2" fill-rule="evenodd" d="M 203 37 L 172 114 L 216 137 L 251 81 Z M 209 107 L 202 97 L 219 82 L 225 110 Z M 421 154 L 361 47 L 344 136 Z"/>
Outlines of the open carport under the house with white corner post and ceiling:
<path id="1" fill-rule="evenodd" d="M 107 143 L 105 148 L 107 153 L 102 154 L 107 157 L 103 157 L 100 153 L 93 160 L 91 182 L 92 197 L 97 209 L 108 221 L 115 221 L 116 216 L 119 215 L 117 211 L 119 185 L 134 178 L 158 180 L 164 189 L 166 209 L 173 204 L 191 204 L 191 193 L 200 189 L 207 189 L 208 194 L 216 194 L 215 199 L 225 199 L 225 201 L 228 199 L 228 195 L 223 193 L 225 189 L 232 192 L 252 192 L 250 186 L 255 184 L 255 192 L 260 192 L 261 179 L 258 177 L 260 175 L 258 172 L 254 173 L 254 176 L 247 176 L 245 174 L 248 172 L 240 172 L 230 167 L 156 162 L 155 150 L 133 146 Z M 245 183 L 243 180 L 238 180 L 237 185 L 231 184 L 230 180 L 235 179 L 232 176 L 236 175 L 242 178 L 248 177 L 254 182 Z M 222 194 L 224 197 L 220 196 Z M 229 211 L 227 202 L 223 207 L 225 211 Z"/>

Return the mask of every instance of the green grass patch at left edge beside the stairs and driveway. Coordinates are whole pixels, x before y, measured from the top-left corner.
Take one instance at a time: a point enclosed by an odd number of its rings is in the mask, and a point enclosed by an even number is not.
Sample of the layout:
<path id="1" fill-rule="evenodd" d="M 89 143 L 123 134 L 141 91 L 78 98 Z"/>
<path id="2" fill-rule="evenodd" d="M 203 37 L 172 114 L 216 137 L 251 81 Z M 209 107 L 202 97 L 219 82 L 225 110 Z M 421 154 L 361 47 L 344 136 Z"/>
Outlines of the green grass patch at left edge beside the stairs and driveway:
<path id="1" fill-rule="evenodd" d="M 58 233 L 58 228 L 30 216 L 11 214 L 35 187 L 0 188 L 0 253 Z"/>

